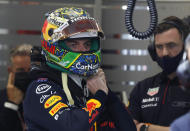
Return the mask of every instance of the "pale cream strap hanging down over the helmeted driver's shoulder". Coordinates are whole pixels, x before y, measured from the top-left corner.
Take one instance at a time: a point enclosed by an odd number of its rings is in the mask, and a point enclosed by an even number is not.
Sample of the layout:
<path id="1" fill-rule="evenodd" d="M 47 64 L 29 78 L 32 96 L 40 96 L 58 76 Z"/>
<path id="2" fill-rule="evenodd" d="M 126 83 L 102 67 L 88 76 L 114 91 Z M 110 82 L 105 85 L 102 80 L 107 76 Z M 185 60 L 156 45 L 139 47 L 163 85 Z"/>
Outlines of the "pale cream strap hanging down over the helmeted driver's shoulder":
<path id="1" fill-rule="evenodd" d="M 67 74 L 66 73 L 61 73 L 61 78 L 62 78 L 62 86 L 63 86 L 63 90 L 67 96 L 67 99 L 69 101 L 69 104 L 70 105 L 74 105 L 74 100 L 71 96 L 71 92 L 69 91 L 69 88 L 68 88 L 68 80 L 67 80 Z"/>

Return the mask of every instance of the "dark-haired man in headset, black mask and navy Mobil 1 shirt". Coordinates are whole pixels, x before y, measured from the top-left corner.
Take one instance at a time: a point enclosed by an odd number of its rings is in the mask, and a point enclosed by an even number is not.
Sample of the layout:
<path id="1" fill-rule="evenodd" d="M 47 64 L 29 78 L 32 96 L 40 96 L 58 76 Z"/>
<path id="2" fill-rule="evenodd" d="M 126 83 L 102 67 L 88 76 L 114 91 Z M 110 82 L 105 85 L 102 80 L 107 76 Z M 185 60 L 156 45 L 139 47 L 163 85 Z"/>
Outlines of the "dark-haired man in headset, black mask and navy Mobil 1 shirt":
<path id="1" fill-rule="evenodd" d="M 188 33 L 189 26 L 175 16 L 156 27 L 148 51 L 162 72 L 138 82 L 130 94 L 129 110 L 137 131 L 169 131 L 170 124 L 188 112 L 190 96 L 179 88 L 176 76 Z"/>

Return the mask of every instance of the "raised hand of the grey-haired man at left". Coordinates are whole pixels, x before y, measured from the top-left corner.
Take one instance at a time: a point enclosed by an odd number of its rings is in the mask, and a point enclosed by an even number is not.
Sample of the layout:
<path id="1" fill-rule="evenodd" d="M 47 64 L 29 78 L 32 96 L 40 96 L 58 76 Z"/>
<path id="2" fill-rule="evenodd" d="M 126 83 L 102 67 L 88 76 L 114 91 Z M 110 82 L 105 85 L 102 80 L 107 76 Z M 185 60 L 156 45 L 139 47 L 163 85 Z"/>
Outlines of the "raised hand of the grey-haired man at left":
<path id="1" fill-rule="evenodd" d="M 14 78 L 14 73 L 10 72 L 7 83 L 7 97 L 9 101 L 19 105 L 23 100 L 24 93 L 14 86 Z"/>

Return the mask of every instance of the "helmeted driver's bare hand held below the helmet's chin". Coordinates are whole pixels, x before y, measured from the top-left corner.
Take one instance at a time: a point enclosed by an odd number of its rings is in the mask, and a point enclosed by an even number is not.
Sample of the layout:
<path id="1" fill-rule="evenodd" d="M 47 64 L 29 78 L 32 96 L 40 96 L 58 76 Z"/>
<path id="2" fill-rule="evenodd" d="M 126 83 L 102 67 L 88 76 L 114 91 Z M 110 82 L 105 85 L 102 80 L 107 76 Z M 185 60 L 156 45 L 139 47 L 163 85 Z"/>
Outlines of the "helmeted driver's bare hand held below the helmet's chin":
<path id="1" fill-rule="evenodd" d="M 95 94 L 98 90 L 102 90 L 108 94 L 106 78 L 102 69 L 99 69 L 96 75 L 88 78 L 87 88 L 92 94 Z"/>

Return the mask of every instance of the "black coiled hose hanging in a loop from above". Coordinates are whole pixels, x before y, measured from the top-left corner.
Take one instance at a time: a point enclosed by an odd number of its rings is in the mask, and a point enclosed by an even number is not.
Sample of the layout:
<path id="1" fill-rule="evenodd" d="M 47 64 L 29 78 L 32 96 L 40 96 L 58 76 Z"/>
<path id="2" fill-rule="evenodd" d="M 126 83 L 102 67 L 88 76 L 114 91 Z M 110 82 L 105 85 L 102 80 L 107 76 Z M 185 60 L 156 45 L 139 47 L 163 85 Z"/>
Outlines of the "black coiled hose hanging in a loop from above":
<path id="1" fill-rule="evenodd" d="M 157 22 L 158 22 L 158 15 L 156 10 L 156 5 L 154 0 L 147 0 L 149 12 L 150 12 L 150 26 L 147 31 L 145 32 L 138 32 L 133 26 L 133 11 L 135 7 L 136 0 L 128 0 L 128 7 L 125 11 L 125 25 L 127 27 L 128 32 L 136 38 L 139 39 L 146 39 L 152 35 L 154 32 Z"/>

